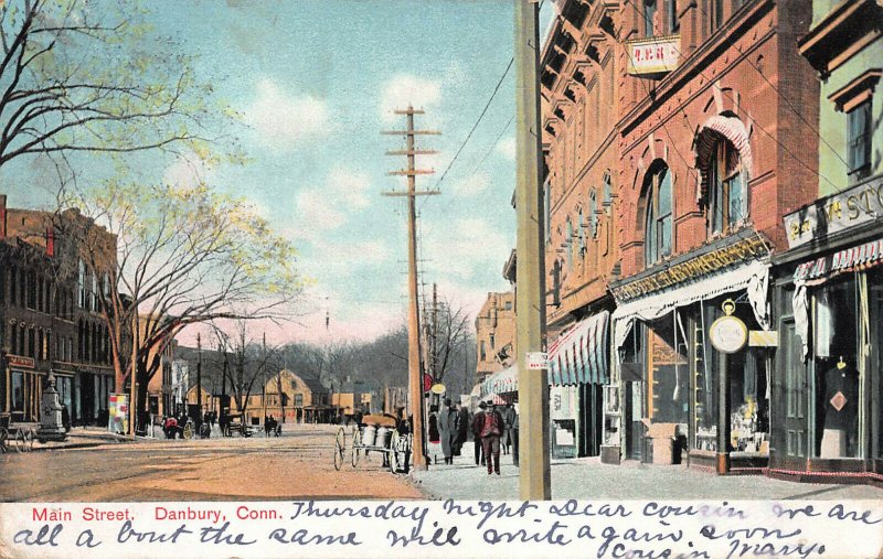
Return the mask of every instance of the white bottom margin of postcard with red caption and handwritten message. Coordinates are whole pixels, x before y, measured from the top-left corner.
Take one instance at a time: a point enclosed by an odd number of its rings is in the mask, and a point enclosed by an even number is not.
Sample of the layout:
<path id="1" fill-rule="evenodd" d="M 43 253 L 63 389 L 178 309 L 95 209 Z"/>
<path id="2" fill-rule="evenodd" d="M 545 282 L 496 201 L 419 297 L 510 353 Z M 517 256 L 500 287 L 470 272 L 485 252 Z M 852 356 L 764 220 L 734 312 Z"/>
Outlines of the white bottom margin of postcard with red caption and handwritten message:
<path id="1" fill-rule="evenodd" d="M 8 557 L 817 558 L 883 547 L 873 498 L 4 503 L 0 513 Z"/>

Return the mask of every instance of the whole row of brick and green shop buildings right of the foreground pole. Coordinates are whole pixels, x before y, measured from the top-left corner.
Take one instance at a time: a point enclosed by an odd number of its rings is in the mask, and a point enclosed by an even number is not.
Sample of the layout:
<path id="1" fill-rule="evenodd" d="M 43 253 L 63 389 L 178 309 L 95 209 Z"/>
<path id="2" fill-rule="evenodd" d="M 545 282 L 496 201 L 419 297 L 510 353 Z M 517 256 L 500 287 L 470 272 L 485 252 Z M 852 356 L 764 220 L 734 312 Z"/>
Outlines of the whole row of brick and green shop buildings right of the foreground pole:
<path id="1" fill-rule="evenodd" d="M 883 7 L 557 8 L 553 455 L 883 482 Z"/>

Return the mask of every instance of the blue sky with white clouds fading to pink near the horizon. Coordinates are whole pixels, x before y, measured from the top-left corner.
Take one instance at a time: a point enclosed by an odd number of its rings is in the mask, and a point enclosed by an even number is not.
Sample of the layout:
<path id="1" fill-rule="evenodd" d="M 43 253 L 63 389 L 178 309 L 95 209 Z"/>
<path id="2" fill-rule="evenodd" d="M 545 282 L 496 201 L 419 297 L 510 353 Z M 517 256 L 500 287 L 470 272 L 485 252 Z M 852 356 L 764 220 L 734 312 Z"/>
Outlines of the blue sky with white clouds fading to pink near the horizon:
<path id="1" fill-rule="evenodd" d="M 550 2 L 551 4 L 551 2 Z M 195 181 L 247 197 L 299 251 L 312 280 L 296 322 L 270 329 L 281 343 L 366 341 L 405 322 L 407 236 L 404 138 L 395 108 L 422 108 L 417 128 L 440 136 L 417 166 L 421 281 L 426 293 L 475 315 L 509 289 L 502 268 L 515 243 L 514 68 L 457 160 L 512 58 L 510 0 L 152 0 L 157 32 L 198 55 L 200 79 L 243 117 L 245 165 L 163 160 L 155 180 Z M 543 9 L 549 25 L 552 7 Z M 507 126 L 509 125 L 509 126 Z M 22 163 L 24 165 L 24 163 Z M 449 169 L 448 169 L 449 168 Z M 23 166 L 26 172 L 26 166 Z M 442 179 L 445 170 L 447 174 Z M 15 184 L 22 184 L 17 182 Z M 19 192 L 17 192 L 17 190 Z M 12 186 L 10 206 L 39 206 Z M 328 316 L 328 326 L 326 326 Z"/>

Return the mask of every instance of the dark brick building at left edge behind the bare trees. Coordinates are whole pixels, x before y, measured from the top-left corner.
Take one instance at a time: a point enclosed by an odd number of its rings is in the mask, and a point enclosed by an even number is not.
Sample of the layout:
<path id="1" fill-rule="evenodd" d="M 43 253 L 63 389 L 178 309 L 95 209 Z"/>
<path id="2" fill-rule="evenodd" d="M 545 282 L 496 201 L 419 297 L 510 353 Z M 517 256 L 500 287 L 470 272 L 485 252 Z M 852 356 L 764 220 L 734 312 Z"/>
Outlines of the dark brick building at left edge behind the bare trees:
<path id="1" fill-rule="evenodd" d="M 100 262 L 95 273 L 84 262 L 87 249 Z M 0 195 L 1 411 L 39 420 L 52 372 L 73 422 L 103 416 L 115 377 L 99 294 L 115 270 L 116 238 L 91 219 L 7 207 Z"/>

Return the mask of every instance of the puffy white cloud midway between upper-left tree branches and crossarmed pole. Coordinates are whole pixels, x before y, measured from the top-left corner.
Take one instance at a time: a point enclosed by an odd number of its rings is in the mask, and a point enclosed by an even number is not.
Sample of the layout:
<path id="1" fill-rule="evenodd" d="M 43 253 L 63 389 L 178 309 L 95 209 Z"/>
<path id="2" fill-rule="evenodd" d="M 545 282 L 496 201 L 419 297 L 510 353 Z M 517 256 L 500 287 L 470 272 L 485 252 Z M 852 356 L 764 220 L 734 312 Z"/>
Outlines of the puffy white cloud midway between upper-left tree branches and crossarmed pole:
<path id="1" fill-rule="evenodd" d="M 262 143 L 277 150 L 290 150 L 331 129 L 323 100 L 310 95 L 292 96 L 269 79 L 258 82 L 257 97 L 245 108 L 245 119 Z"/>

